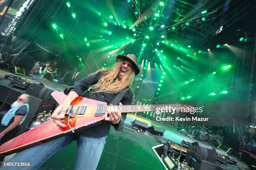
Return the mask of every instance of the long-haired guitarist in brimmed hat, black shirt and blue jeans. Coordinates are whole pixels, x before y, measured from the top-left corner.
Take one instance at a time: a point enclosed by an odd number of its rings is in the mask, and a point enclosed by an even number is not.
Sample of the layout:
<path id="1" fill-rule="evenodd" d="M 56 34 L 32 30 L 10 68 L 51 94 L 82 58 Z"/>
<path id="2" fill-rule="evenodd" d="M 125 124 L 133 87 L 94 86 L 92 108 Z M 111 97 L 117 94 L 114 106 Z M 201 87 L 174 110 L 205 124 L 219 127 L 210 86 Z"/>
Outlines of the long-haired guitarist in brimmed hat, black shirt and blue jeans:
<path id="1" fill-rule="evenodd" d="M 76 97 L 82 96 L 82 93 L 89 87 L 92 88 L 84 97 L 110 104 L 120 91 L 125 91 L 125 95 L 121 98 L 119 105 L 122 105 L 122 103 L 123 105 L 131 105 L 133 100 L 131 84 L 134 75 L 140 72 L 136 62 L 137 58 L 133 54 L 127 56 L 118 55 L 112 68 L 98 70 L 79 80 L 74 86 L 65 89 L 64 93 L 67 98 L 54 110 L 51 116 L 56 125 L 62 128 L 66 127 L 61 118 L 64 118 L 70 103 Z M 9 162 L 30 162 L 30 167 L 22 167 L 22 169 L 35 170 L 59 149 L 69 145 L 73 140 L 77 140 L 74 170 L 96 170 L 110 131 L 110 125 L 117 131 L 122 130 L 126 118 L 126 114 L 121 115 L 116 107 L 108 110 L 108 115 L 108 117 L 105 117 L 104 123 L 24 150 L 17 153 Z M 67 157 L 67 161 L 68 159 Z M 2 168 L 5 169 L 5 167 Z"/>

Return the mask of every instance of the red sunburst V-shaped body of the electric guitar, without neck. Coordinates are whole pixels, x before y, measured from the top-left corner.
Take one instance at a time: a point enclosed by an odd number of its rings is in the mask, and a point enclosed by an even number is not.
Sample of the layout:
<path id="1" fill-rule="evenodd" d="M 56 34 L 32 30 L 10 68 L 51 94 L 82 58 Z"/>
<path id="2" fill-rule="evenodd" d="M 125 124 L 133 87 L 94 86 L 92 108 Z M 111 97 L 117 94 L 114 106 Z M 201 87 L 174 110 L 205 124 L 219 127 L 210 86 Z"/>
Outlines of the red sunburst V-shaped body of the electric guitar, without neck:
<path id="1" fill-rule="evenodd" d="M 59 104 L 67 97 L 63 92 L 53 92 L 51 95 Z M 73 129 L 76 129 L 75 132 L 89 128 L 92 125 L 97 125 L 100 121 L 104 121 L 105 114 L 102 114 L 102 116 L 95 116 L 95 110 L 97 109 L 97 105 L 107 105 L 105 102 L 77 97 L 71 105 L 87 105 L 87 109 L 83 117 L 71 117 L 72 122 L 70 123 L 70 126 Z M 11 155 L 72 133 L 67 123 L 67 115 L 64 120 L 64 124 L 67 125 L 66 128 L 57 127 L 56 123 L 51 119 L 36 128 L 28 130 L 26 133 L 23 133 L 1 145 L 0 154 L 5 156 Z"/>

